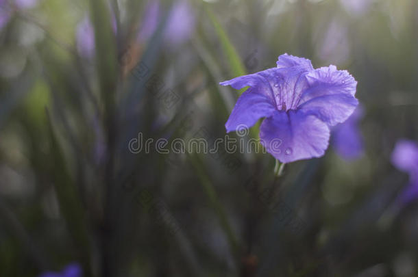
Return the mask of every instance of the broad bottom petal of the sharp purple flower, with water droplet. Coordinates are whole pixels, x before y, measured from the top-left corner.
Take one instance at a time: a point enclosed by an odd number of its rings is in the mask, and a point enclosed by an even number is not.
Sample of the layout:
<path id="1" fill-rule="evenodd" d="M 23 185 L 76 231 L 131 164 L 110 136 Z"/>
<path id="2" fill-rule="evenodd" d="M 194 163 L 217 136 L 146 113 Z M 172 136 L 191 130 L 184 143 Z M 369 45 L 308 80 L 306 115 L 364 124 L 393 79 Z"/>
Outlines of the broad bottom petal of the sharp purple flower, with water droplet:
<path id="1" fill-rule="evenodd" d="M 321 157 L 329 138 L 328 125 L 302 111 L 276 111 L 260 126 L 261 144 L 282 163 Z"/>

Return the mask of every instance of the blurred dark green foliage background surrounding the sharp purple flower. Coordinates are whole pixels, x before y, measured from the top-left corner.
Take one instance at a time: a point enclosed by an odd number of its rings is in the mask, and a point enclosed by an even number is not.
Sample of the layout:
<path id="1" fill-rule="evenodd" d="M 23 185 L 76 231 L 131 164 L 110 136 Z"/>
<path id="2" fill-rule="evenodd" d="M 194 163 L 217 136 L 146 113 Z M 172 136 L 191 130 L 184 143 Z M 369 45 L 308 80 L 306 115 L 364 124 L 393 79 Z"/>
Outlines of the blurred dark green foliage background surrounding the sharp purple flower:
<path id="1" fill-rule="evenodd" d="M 391 163 L 418 141 L 418 1 L 0 7 L 0 276 L 418 276 Z M 239 92 L 218 83 L 284 53 L 358 81 L 353 155 L 333 133 L 278 178 L 269 154 L 141 148 L 224 137 Z"/>

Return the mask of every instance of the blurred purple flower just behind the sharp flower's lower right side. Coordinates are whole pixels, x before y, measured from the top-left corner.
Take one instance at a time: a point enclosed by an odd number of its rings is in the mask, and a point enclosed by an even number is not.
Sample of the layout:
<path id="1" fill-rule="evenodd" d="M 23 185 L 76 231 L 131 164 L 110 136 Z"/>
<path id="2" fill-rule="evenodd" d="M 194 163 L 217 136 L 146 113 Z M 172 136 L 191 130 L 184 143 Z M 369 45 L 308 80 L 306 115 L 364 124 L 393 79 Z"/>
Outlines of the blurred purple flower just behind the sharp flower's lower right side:
<path id="1" fill-rule="evenodd" d="M 358 159 L 364 152 L 362 135 L 358 129 L 362 116 L 362 107 L 358 106 L 352 116 L 332 129 L 332 144 L 336 153 L 347 161 Z"/>

